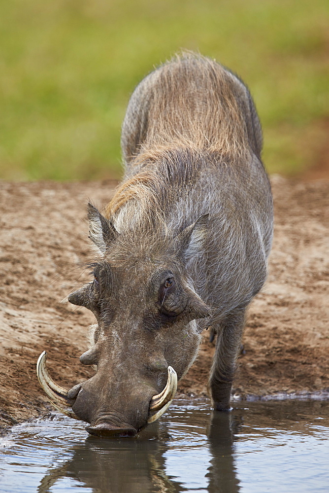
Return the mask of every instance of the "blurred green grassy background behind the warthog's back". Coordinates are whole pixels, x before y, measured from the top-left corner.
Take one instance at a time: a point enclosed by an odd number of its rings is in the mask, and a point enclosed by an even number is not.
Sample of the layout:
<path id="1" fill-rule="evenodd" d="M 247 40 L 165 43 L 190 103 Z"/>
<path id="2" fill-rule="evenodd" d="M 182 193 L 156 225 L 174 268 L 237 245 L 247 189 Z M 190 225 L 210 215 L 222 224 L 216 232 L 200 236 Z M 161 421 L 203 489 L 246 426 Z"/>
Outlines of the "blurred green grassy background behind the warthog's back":
<path id="1" fill-rule="evenodd" d="M 181 48 L 248 84 L 270 173 L 318 166 L 328 151 L 328 10 L 328 0 L 0 2 L 0 177 L 119 177 L 130 94 Z"/>

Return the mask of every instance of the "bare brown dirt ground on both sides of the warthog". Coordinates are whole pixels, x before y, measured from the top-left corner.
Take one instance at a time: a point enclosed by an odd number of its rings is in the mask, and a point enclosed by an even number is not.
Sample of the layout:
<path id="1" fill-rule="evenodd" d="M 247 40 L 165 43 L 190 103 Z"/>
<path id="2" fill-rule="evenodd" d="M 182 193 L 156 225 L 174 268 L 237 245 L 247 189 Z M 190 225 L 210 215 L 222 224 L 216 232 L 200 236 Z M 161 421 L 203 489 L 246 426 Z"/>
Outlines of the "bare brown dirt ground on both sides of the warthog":
<path id="1" fill-rule="evenodd" d="M 329 179 L 272 176 L 275 235 L 269 276 L 252 303 L 233 393 L 242 398 L 329 390 Z M 88 260 L 86 204 L 115 182 L 0 182 L 0 430 L 52 411 L 35 373 L 70 388 L 94 374 L 79 363 L 92 316 L 66 295 Z M 178 397 L 206 395 L 214 344 L 205 332 Z"/>

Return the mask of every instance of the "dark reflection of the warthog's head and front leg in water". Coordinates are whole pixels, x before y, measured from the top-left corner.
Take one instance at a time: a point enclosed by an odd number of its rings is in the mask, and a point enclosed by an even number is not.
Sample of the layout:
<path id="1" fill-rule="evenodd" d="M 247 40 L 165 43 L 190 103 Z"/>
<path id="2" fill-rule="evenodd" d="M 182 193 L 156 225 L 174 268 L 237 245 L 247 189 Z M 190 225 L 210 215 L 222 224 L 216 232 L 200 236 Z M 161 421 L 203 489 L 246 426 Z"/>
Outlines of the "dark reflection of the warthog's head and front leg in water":
<path id="1" fill-rule="evenodd" d="M 203 488 L 186 488 L 177 475 L 168 470 L 166 456 L 175 448 L 178 440 L 179 457 L 183 458 L 181 439 L 172 436 L 166 423 L 153 425 L 138 439 L 99 439 L 88 437 L 85 443 L 69 450 L 71 458 L 59 467 L 50 468 L 42 479 L 38 493 L 47 493 L 61 477 L 69 477 L 90 488 L 93 493 L 180 493 L 193 491 L 209 493 L 238 493 L 239 481 L 234 464 L 234 434 L 237 433 L 242 417 L 237 413 L 204 412 L 185 417 L 183 427 L 189 437 L 191 432 L 203 436 L 203 443 L 186 443 L 188 449 L 198 445 L 210 451 L 205 457 L 202 470 L 198 471 Z M 200 415 L 200 416 L 199 416 Z M 179 418 L 182 418 L 179 416 Z M 202 423 L 200 423 L 200 420 Z M 205 427 L 206 426 L 206 427 Z M 191 437 L 190 437 L 191 440 Z M 184 447 L 183 447 L 184 448 Z M 179 469 L 179 464 L 177 464 Z M 184 466 L 182 466 L 184 468 Z M 190 468 L 193 464 L 190 464 Z M 184 471 L 182 471 L 184 474 Z M 185 475 L 189 471 L 185 471 Z M 82 486 L 82 485 L 81 485 Z"/>

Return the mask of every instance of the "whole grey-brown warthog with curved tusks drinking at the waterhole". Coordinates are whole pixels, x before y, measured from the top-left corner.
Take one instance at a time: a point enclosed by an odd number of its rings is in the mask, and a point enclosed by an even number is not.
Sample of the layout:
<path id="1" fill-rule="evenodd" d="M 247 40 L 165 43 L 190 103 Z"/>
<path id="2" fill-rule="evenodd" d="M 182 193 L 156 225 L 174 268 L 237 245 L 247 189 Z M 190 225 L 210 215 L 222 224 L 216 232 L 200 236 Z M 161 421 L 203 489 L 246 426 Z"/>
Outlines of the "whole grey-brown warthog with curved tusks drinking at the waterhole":
<path id="1" fill-rule="evenodd" d="M 168 407 L 211 326 L 208 389 L 230 408 L 246 308 L 266 278 L 272 198 L 250 93 L 229 70 L 184 54 L 134 90 L 122 127 L 125 177 L 101 214 L 88 206 L 94 279 L 68 300 L 93 312 L 81 357 L 95 376 L 51 402 L 104 436 L 133 436 Z"/>

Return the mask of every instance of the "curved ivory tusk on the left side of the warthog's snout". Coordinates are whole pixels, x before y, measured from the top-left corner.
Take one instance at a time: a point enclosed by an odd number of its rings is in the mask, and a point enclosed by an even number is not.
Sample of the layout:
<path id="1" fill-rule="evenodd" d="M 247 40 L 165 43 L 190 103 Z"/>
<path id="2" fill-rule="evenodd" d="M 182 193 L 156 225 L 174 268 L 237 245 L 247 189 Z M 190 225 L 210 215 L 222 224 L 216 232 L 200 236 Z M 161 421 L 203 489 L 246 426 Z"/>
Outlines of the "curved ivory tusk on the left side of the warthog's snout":
<path id="1" fill-rule="evenodd" d="M 46 360 L 47 353 L 44 351 L 40 354 L 38 362 L 36 363 L 36 374 L 41 387 L 46 392 L 49 401 L 56 409 L 70 418 L 79 420 L 73 411 L 69 409 L 72 400 L 68 399 L 66 388 L 60 387 L 50 378 L 46 366 Z"/>

